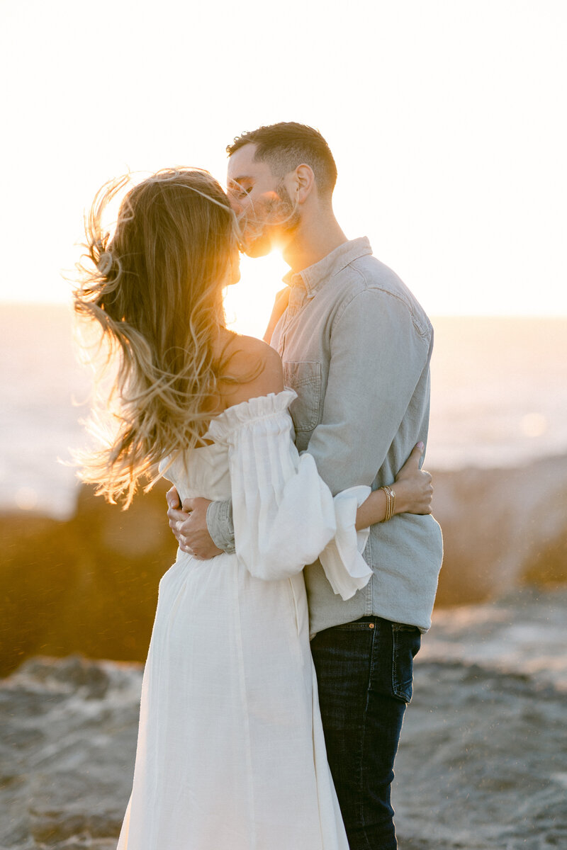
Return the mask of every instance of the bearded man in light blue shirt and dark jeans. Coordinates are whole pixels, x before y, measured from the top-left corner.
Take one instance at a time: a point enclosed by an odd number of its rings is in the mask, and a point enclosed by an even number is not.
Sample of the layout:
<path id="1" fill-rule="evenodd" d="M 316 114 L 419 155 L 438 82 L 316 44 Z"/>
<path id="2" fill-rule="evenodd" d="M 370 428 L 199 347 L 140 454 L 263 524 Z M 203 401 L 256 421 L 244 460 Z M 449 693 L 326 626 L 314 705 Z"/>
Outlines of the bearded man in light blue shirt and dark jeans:
<path id="1" fill-rule="evenodd" d="M 411 292 L 349 241 L 332 211 L 337 168 L 325 139 L 294 122 L 260 127 L 229 153 L 231 203 L 252 257 L 281 246 L 289 303 L 275 306 L 271 344 L 281 354 L 299 451 L 315 457 L 333 495 L 390 484 L 426 441 L 433 331 Z M 282 304 L 283 301 L 283 304 Z M 281 317 L 279 313 L 282 312 Z M 180 545 L 200 558 L 234 552 L 230 502 L 168 494 Z M 442 557 L 439 525 L 399 514 L 371 527 L 369 584 L 344 602 L 319 563 L 304 570 L 311 649 L 327 756 L 351 850 L 397 847 L 390 785 L 412 659 L 430 626 Z"/>

